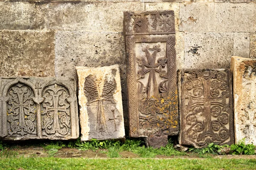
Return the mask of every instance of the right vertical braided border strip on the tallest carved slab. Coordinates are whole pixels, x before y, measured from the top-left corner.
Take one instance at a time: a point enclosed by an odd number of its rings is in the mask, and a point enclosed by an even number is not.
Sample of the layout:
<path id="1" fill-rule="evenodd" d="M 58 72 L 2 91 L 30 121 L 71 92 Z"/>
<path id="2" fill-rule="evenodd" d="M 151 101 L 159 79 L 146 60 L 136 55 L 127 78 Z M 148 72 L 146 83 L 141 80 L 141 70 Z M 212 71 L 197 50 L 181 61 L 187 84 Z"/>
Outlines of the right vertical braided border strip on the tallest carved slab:
<path id="1" fill-rule="evenodd" d="M 176 51 L 175 51 L 175 36 L 170 36 L 167 44 L 167 56 L 168 56 L 168 88 L 169 96 L 171 96 L 170 105 L 170 119 L 172 122 L 178 121 L 178 99 L 177 99 L 177 75 L 176 75 Z M 175 125 L 174 125 L 175 126 Z M 178 130 L 178 123 L 176 125 L 176 130 Z"/>

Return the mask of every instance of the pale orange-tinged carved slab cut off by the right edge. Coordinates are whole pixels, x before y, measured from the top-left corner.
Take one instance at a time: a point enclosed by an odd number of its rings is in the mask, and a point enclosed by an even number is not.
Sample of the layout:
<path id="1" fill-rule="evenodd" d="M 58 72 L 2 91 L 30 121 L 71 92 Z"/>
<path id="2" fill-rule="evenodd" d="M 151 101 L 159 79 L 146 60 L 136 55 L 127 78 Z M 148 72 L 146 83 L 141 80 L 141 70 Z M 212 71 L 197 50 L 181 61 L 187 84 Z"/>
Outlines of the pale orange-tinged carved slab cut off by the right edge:
<path id="1" fill-rule="evenodd" d="M 256 59 L 232 57 L 235 142 L 256 145 Z"/>

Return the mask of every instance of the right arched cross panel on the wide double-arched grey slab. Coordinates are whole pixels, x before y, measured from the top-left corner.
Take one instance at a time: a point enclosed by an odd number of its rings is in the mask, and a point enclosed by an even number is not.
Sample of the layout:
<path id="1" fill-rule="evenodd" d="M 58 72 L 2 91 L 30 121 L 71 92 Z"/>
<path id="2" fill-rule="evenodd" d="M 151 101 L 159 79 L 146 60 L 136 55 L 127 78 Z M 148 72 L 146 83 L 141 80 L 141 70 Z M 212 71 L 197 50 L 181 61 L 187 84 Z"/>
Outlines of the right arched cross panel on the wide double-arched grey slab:
<path id="1" fill-rule="evenodd" d="M 64 86 L 54 84 L 44 88 L 42 96 L 42 129 L 44 136 L 68 136 L 71 133 L 70 97 Z"/>

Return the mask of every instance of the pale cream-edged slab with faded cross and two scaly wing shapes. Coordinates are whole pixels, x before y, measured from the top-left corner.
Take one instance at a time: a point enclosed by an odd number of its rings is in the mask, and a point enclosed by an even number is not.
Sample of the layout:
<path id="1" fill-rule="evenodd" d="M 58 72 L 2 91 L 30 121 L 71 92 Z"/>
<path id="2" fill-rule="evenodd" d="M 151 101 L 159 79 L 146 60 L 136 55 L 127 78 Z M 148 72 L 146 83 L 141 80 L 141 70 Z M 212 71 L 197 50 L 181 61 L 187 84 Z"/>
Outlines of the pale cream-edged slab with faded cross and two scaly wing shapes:
<path id="1" fill-rule="evenodd" d="M 119 66 L 76 70 L 81 141 L 125 139 Z"/>

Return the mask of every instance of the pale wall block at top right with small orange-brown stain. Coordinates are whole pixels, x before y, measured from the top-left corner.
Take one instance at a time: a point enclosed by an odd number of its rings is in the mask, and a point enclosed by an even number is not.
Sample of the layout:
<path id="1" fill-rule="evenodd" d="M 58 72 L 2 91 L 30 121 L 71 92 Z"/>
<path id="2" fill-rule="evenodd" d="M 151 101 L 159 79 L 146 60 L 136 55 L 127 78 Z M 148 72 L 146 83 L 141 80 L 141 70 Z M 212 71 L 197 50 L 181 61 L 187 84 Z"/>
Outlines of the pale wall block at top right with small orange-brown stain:
<path id="1" fill-rule="evenodd" d="M 256 3 L 182 3 L 180 31 L 255 32 Z"/>

